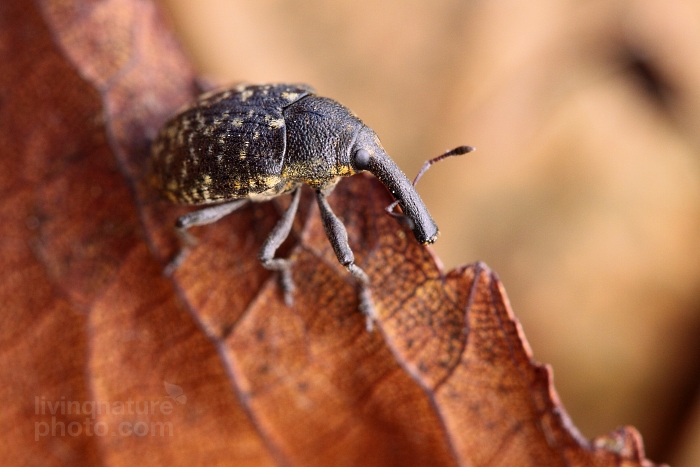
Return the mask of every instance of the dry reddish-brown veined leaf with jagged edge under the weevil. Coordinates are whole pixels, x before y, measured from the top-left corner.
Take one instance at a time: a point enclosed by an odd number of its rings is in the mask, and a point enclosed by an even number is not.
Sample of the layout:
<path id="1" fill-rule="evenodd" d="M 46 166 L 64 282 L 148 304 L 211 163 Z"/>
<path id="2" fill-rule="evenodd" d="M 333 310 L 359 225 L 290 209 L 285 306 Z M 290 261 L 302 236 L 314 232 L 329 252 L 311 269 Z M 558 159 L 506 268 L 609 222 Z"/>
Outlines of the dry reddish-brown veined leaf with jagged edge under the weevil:
<path id="1" fill-rule="evenodd" d="M 4 2 L 0 31 L 8 465 L 652 465 L 632 428 L 577 434 L 495 274 L 445 275 L 369 176 L 330 202 L 377 332 L 309 193 L 285 250 L 293 307 L 256 255 L 278 203 L 196 230 L 163 277 L 183 211 L 145 160 L 195 86 L 156 9 Z"/>

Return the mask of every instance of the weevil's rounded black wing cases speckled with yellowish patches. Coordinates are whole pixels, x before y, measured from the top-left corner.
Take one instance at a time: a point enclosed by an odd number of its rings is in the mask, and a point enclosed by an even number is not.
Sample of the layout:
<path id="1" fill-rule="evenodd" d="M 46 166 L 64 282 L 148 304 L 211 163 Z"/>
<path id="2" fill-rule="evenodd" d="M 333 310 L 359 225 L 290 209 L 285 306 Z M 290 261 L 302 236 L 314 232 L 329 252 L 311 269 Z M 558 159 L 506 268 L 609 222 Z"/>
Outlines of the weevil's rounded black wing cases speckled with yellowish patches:
<path id="1" fill-rule="evenodd" d="M 202 95 L 155 141 L 156 185 L 187 204 L 289 191 L 293 184 L 280 176 L 287 144 L 283 111 L 313 92 L 305 85 L 241 85 Z"/>

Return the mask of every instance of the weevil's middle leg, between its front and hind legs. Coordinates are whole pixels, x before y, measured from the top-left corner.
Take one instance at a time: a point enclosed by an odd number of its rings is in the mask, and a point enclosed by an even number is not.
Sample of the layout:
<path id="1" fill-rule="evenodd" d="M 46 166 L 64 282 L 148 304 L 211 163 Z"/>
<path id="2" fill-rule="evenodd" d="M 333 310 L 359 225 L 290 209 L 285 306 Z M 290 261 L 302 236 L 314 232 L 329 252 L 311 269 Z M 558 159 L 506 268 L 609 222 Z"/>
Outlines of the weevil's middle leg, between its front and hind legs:
<path id="1" fill-rule="evenodd" d="M 265 240 L 265 243 L 263 243 L 258 253 L 258 258 L 263 267 L 280 272 L 280 281 L 282 284 L 282 291 L 284 292 L 284 303 L 287 306 L 292 306 L 293 303 L 294 281 L 292 280 L 291 262 L 288 259 L 275 258 L 275 252 L 277 252 L 277 249 L 286 240 L 289 236 L 289 232 L 292 230 L 294 216 L 299 208 L 300 197 L 301 186 L 294 190 L 292 202 L 289 204 L 284 214 L 282 214 L 280 220 L 277 221 L 277 224 L 275 224 L 275 227 L 272 229 L 272 232 L 270 232 L 270 235 L 267 237 L 267 240 Z"/>

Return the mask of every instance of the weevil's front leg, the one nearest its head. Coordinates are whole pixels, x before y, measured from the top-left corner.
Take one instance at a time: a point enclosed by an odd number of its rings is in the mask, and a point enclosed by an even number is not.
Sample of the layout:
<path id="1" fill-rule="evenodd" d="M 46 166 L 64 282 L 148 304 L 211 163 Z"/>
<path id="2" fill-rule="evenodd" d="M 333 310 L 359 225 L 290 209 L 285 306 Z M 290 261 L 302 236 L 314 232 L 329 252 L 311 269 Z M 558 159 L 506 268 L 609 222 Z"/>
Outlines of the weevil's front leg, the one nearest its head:
<path id="1" fill-rule="evenodd" d="M 340 219 L 333 213 L 326 199 L 326 195 L 321 191 L 317 191 L 316 198 L 318 200 L 318 206 L 321 209 L 323 228 L 326 231 L 328 240 L 331 242 L 335 256 L 338 258 L 340 264 L 345 266 L 359 282 L 360 311 L 367 318 L 367 330 L 372 331 L 376 316 L 374 313 L 374 305 L 372 304 L 372 294 L 369 290 L 369 276 L 355 264 L 355 255 L 352 253 L 350 245 L 348 245 L 348 232 L 345 230 L 345 226 Z"/>

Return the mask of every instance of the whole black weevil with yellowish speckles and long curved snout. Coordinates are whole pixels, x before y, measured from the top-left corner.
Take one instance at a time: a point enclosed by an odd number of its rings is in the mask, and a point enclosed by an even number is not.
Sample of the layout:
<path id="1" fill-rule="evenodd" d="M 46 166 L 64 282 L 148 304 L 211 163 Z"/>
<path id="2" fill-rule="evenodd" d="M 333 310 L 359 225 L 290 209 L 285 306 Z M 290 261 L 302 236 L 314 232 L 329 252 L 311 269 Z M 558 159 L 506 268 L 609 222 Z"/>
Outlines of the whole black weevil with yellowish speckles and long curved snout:
<path id="1" fill-rule="evenodd" d="M 420 174 L 435 160 L 471 149 L 461 146 L 428 161 Z M 291 264 L 275 258 L 275 252 L 292 228 L 302 183 L 310 185 L 338 261 L 359 282 L 360 310 L 371 329 L 369 278 L 355 265 L 345 227 L 326 200 L 340 177 L 365 170 L 394 195 L 403 211 L 394 215 L 410 226 L 416 239 L 433 243 L 438 235 L 435 222 L 374 131 L 352 111 L 316 96 L 304 84 L 239 85 L 203 94 L 166 123 L 151 156 L 153 182 L 172 201 L 218 203 L 177 219 L 176 228 L 184 238 L 189 227 L 216 222 L 249 201 L 292 193 L 289 207 L 258 254 L 265 268 L 280 271 L 287 305 L 294 289 Z M 170 272 L 186 251 L 183 247 L 171 262 Z"/>

